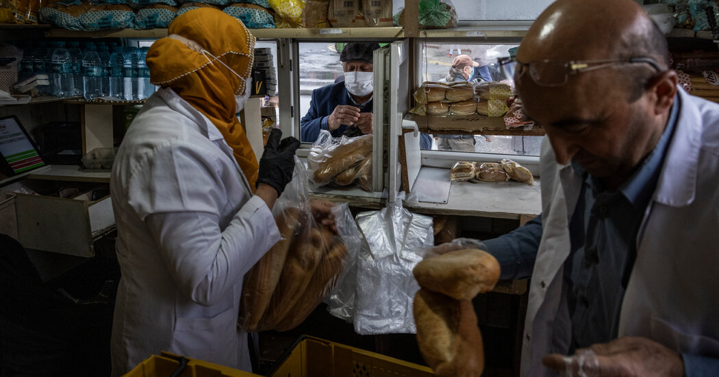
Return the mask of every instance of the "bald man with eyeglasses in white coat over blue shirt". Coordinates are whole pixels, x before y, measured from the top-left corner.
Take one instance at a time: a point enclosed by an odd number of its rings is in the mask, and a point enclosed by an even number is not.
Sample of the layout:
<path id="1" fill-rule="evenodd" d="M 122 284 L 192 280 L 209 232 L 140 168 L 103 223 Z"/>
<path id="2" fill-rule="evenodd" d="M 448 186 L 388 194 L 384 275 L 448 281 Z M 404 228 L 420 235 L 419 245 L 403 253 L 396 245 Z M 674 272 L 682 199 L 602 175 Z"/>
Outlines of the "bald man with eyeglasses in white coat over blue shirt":
<path id="1" fill-rule="evenodd" d="M 507 65 L 547 134 L 541 217 L 485 241 L 531 276 L 523 376 L 719 374 L 719 106 L 667 55 L 636 2 L 559 0 Z"/>

